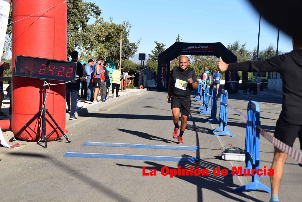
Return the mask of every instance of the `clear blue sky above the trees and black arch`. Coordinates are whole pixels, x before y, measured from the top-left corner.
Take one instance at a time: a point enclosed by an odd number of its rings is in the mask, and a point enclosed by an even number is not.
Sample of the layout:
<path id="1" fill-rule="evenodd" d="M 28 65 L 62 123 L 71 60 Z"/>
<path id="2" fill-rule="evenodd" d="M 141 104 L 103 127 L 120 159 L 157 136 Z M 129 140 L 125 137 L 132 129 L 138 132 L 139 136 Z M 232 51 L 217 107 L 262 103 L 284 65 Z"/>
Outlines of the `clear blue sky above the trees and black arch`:
<path id="1" fill-rule="evenodd" d="M 96 3 L 105 21 L 109 17 L 120 24 L 129 20 L 130 41 L 142 38 L 137 53 L 151 53 L 155 43 L 175 42 L 179 34 L 182 42 L 221 42 L 227 46 L 235 40 L 246 42 L 252 50 L 257 46 L 259 13 L 247 0 L 153 0 L 153 1 L 100 1 Z M 90 23 L 92 20 L 90 21 Z M 259 49 L 277 44 L 278 28 L 261 19 Z M 280 32 L 279 51 L 291 51 L 291 37 Z"/>

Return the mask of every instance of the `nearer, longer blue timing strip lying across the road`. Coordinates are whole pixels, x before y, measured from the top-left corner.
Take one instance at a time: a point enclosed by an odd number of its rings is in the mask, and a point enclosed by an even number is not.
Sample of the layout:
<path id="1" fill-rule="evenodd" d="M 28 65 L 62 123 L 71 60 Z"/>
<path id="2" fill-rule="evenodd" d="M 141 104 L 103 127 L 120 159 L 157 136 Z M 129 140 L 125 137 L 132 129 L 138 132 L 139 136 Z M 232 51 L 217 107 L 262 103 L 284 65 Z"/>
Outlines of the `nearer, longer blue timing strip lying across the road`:
<path id="1" fill-rule="evenodd" d="M 66 152 L 64 157 L 81 157 L 81 158 L 113 158 L 113 159 L 129 159 L 129 160 L 145 160 L 145 161 L 178 161 L 178 162 L 194 162 L 198 161 L 198 157 L 191 156 L 153 156 L 140 154 L 106 154 L 92 152 Z"/>

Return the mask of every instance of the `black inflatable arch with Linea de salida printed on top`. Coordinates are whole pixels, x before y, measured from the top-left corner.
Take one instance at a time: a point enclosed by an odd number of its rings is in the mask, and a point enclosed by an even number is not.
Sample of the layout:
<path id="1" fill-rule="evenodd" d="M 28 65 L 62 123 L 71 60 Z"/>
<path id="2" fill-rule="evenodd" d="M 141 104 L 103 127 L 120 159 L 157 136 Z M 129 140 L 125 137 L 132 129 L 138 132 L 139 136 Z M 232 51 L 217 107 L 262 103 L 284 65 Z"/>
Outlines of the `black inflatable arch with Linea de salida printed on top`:
<path id="1" fill-rule="evenodd" d="M 222 43 L 184 43 L 175 42 L 158 56 L 157 90 L 168 91 L 170 78 L 170 61 L 179 55 L 214 55 L 221 56 L 226 63 L 237 62 L 237 57 Z M 225 71 L 226 81 L 238 81 L 237 71 Z M 224 88 L 228 93 L 238 93 L 238 83 L 225 83 Z"/>

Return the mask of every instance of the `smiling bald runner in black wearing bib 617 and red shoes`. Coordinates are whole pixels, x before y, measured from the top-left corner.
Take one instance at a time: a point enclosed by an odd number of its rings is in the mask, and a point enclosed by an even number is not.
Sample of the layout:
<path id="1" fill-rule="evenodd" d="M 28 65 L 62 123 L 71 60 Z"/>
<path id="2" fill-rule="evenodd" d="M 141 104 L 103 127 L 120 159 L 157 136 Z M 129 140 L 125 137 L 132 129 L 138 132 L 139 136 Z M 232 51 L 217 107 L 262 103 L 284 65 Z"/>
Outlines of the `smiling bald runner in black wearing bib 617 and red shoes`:
<path id="1" fill-rule="evenodd" d="M 195 72 L 188 68 L 189 58 L 185 55 L 179 58 L 179 67 L 174 67 L 170 73 L 169 79 L 169 93 L 167 96 L 167 102 L 171 103 L 173 123 L 175 125 L 173 138 L 178 138 L 178 144 L 183 144 L 184 140 L 182 135 L 185 132 L 187 126 L 187 119 L 190 114 L 191 108 L 191 90 L 197 89 L 197 78 Z M 178 136 L 178 120 L 179 113 L 181 116 L 180 133 Z"/>

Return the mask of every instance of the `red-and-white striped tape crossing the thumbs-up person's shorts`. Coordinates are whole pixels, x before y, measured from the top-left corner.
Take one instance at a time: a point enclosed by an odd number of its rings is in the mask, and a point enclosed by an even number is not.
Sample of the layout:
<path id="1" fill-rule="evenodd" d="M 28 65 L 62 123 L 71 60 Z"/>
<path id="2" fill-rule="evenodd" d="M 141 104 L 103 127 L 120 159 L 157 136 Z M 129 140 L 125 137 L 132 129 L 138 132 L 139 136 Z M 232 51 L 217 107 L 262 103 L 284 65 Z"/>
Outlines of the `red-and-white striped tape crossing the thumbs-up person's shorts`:
<path id="1" fill-rule="evenodd" d="M 256 127 L 256 130 L 259 130 L 259 133 L 267 139 L 270 143 L 272 143 L 275 147 L 283 151 L 288 156 L 292 157 L 294 160 L 298 161 L 298 163 L 302 164 L 302 153 L 295 150 L 294 148 L 284 144 L 277 138 L 273 137 L 272 135 L 268 134 L 265 130 L 260 127 Z"/>

